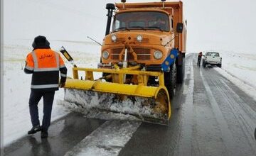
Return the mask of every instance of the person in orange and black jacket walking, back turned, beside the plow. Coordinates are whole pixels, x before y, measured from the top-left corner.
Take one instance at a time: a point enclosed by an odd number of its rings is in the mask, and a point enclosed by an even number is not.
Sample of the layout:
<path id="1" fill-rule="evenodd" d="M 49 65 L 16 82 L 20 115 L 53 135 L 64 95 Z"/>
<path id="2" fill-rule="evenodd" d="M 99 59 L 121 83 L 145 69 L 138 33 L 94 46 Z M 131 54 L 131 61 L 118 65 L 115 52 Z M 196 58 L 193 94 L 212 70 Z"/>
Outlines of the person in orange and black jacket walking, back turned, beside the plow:
<path id="1" fill-rule="evenodd" d="M 67 68 L 60 54 L 50 49 L 50 43 L 45 36 L 37 36 L 32 47 L 33 51 L 28 53 L 24 68 L 26 74 L 32 74 L 31 94 L 28 102 L 32 128 L 28 134 L 41 131 L 41 138 L 48 138 L 54 94 L 58 87 L 65 86 Z M 43 122 L 40 126 L 38 102 L 42 97 Z"/>

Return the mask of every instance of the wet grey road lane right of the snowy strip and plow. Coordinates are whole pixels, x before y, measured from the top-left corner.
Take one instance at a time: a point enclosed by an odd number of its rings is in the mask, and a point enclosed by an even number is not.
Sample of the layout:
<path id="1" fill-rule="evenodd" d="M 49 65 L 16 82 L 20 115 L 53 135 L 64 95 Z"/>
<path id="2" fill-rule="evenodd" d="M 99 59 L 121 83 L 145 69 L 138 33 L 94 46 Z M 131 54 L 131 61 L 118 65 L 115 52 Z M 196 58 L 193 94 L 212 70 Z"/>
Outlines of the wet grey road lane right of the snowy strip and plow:
<path id="1" fill-rule="evenodd" d="M 168 127 L 142 123 L 119 155 L 256 155 L 256 101 L 186 56 Z"/>

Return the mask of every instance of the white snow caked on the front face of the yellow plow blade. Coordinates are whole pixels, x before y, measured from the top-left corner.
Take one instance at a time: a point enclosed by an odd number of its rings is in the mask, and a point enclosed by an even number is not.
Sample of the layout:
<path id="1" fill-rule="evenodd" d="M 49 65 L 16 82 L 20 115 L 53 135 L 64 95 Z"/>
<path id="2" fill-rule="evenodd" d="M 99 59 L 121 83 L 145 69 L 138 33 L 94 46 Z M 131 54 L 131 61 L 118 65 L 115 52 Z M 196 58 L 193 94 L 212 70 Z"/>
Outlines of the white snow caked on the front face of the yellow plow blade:
<path id="1" fill-rule="evenodd" d="M 121 98 L 115 94 L 102 94 L 78 89 L 67 89 L 64 97 L 68 101 L 65 102 L 66 106 L 72 108 L 73 111 L 85 114 L 87 118 L 125 120 L 139 120 L 138 118 L 143 120 L 142 116 L 161 118 L 161 114 L 154 113 L 151 106 L 145 106 L 145 104 L 153 103 L 154 99 L 126 96 L 124 99 Z M 60 103 L 63 103 L 63 101 L 60 101 Z M 138 118 L 128 114 L 137 115 Z"/>

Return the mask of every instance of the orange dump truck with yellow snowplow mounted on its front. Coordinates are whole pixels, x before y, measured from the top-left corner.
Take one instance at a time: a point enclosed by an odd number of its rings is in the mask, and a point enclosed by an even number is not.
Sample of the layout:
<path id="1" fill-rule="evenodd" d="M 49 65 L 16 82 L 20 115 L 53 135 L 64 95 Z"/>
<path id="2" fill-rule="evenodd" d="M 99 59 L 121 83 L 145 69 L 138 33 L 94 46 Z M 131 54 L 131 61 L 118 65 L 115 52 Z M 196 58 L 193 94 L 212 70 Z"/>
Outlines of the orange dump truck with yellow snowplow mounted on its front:
<path id="1" fill-rule="evenodd" d="M 167 124 L 170 99 L 184 75 L 183 3 L 122 1 L 107 4 L 106 9 L 107 28 L 98 68 L 74 67 L 73 79 L 65 84 L 65 100 L 78 104 L 78 96 L 86 101 L 89 94 L 101 99 L 93 105 L 97 109 Z M 79 79 L 78 71 L 85 71 L 85 79 Z M 94 72 L 102 72 L 102 77 L 94 79 Z M 85 108 L 90 105 L 82 103 Z"/>

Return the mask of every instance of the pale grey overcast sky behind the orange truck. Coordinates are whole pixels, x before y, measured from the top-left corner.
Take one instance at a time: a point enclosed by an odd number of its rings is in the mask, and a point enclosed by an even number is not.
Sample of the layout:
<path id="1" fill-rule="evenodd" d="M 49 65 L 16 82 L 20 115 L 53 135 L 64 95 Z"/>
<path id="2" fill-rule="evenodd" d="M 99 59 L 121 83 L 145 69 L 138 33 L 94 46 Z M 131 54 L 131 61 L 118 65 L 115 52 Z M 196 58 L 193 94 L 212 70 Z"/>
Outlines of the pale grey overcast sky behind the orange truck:
<path id="1" fill-rule="evenodd" d="M 4 40 L 15 44 L 16 39 L 46 35 L 50 40 L 87 41 L 89 35 L 101 42 L 107 21 L 105 5 L 114 2 L 119 1 L 4 0 Z M 188 51 L 255 53 L 255 0 L 183 0 L 183 6 Z"/>

